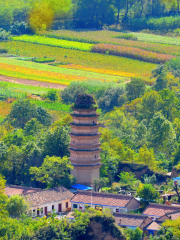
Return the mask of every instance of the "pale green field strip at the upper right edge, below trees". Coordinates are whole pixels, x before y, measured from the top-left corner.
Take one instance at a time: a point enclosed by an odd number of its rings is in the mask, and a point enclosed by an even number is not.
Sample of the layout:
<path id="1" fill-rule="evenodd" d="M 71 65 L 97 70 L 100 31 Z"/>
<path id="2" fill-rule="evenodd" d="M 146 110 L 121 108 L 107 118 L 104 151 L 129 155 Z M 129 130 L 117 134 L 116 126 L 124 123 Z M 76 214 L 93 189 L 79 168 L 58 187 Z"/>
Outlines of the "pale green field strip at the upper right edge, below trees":
<path id="1" fill-rule="evenodd" d="M 138 32 L 137 33 L 132 32 L 132 34 L 134 36 L 136 36 L 139 41 L 180 46 L 180 38 L 179 37 L 173 38 L 173 37 L 166 37 L 166 36 L 149 34 L 149 33 L 138 33 Z"/>

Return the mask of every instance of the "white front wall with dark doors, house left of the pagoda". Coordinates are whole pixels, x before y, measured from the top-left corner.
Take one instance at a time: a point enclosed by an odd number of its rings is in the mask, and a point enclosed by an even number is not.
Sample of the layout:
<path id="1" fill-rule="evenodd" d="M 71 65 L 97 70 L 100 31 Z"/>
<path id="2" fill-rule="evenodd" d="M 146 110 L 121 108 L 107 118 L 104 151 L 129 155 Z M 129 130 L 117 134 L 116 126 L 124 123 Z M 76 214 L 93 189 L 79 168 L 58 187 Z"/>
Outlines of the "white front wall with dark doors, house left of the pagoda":
<path id="1" fill-rule="evenodd" d="M 66 207 L 66 202 L 68 202 L 68 208 Z M 51 213 L 53 212 L 53 208 L 52 206 L 54 205 L 54 210 L 56 213 L 59 213 L 59 204 L 61 204 L 61 212 L 66 212 L 69 209 L 71 209 L 71 202 L 70 199 L 67 200 L 62 200 L 62 201 L 58 201 L 58 202 L 52 202 L 52 203 L 47 203 L 47 204 L 42 204 L 42 205 L 38 205 L 35 207 L 31 207 L 30 211 L 32 212 L 32 215 L 34 217 L 37 216 L 37 212 L 39 210 L 39 216 L 44 216 L 45 215 L 45 208 L 47 207 L 47 213 Z M 41 209 L 43 209 L 43 212 L 41 212 Z"/>

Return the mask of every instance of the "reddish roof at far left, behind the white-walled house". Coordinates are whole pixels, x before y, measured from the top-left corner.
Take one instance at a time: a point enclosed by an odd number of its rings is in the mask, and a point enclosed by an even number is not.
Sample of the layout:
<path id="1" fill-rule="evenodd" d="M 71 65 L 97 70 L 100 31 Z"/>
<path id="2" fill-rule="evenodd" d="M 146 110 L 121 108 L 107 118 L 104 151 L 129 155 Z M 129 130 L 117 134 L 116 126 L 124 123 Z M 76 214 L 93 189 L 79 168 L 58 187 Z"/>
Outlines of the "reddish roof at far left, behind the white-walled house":
<path id="1" fill-rule="evenodd" d="M 41 191 L 41 189 L 17 186 L 17 185 L 8 185 L 5 188 L 5 194 L 8 195 L 9 197 L 12 195 L 20 195 L 20 194 L 26 194 L 31 192 L 37 192 L 37 191 Z"/>

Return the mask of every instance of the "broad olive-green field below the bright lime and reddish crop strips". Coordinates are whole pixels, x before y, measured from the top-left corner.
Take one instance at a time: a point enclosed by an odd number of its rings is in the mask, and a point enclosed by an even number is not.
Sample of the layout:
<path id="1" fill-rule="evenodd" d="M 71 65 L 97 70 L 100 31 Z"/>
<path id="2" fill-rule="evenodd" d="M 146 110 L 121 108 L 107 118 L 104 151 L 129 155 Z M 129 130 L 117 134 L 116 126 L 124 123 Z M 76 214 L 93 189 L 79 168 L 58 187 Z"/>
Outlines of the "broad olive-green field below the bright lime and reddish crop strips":
<path id="1" fill-rule="evenodd" d="M 58 62 L 63 62 L 67 64 L 77 64 L 77 65 L 82 65 L 82 66 L 92 67 L 92 68 L 96 66 L 96 69 L 107 69 L 111 71 L 114 70 L 119 72 L 135 73 L 138 75 L 139 74 L 149 75 L 151 71 L 156 68 L 156 64 L 141 62 L 141 61 L 130 59 L 130 58 L 103 55 L 103 54 L 92 53 L 92 52 L 83 52 L 83 51 L 72 50 L 72 49 L 64 49 L 64 48 L 58 48 L 58 47 L 32 44 L 27 42 L 11 41 L 11 42 L 3 42 L 2 45 L 3 47 L 7 48 L 9 53 L 11 54 L 17 54 L 17 55 L 26 56 L 26 57 L 40 57 L 40 58 L 47 56 L 50 58 L 55 58 L 56 61 Z M 8 62 L 9 61 L 10 59 L 8 59 Z M 28 66 L 30 67 L 31 64 L 34 65 L 35 63 L 27 62 L 27 67 Z M 43 66 L 41 65 L 41 67 L 43 67 L 44 70 L 48 70 L 47 65 L 43 65 Z M 62 68 L 59 68 L 59 67 L 56 69 L 57 69 L 56 71 L 58 71 L 58 69 L 62 70 Z M 53 71 L 53 70 L 51 69 L 49 71 Z M 92 74 L 90 76 L 92 76 Z"/>

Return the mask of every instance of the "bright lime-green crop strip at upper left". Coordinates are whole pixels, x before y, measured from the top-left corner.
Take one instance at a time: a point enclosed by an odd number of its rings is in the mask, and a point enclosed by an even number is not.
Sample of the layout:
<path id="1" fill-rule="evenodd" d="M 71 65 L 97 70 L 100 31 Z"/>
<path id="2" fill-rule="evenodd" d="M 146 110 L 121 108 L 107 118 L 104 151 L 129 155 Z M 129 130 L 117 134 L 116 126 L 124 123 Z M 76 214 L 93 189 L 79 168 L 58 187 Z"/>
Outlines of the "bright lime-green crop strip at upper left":
<path id="1" fill-rule="evenodd" d="M 92 47 L 92 44 L 89 44 L 89 43 L 59 40 L 56 38 L 49 38 L 45 36 L 36 36 L 36 35 L 34 36 L 23 35 L 18 37 L 12 37 L 12 39 L 15 41 L 37 43 L 37 44 L 48 45 L 48 46 L 76 49 L 81 51 L 90 51 Z"/>

